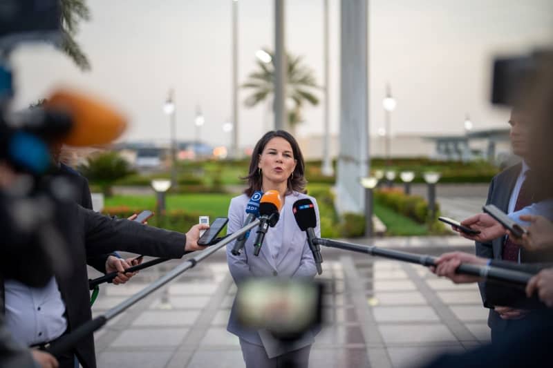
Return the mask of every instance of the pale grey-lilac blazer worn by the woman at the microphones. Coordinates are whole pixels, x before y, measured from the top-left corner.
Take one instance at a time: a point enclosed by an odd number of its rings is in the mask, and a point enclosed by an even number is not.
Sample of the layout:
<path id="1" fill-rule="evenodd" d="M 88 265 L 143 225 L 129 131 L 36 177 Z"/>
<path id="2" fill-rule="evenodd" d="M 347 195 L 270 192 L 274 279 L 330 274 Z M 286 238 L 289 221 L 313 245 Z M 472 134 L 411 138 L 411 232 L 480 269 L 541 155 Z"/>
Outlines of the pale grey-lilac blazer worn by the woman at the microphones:
<path id="1" fill-rule="evenodd" d="M 321 227 L 319 219 L 319 207 L 315 198 L 309 195 L 293 192 L 286 195 L 284 205 L 281 209 L 281 217 L 277 226 L 270 228 L 265 235 L 265 241 L 261 247 L 259 256 L 253 254 L 255 229 L 250 233 L 250 237 L 245 242 L 241 255 L 232 255 L 231 251 L 234 242 L 227 245 L 227 263 L 229 270 L 234 278 L 234 282 L 239 287 L 242 280 L 254 277 L 274 277 L 283 278 L 313 278 L 317 273 L 315 260 L 309 249 L 307 236 L 297 226 L 294 214 L 292 213 L 292 204 L 297 200 L 309 198 L 315 204 L 315 213 L 317 213 L 317 228 L 315 234 L 321 236 Z M 247 195 L 239 195 L 232 198 L 229 206 L 228 233 L 241 229 L 247 214 L 245 212 L 246 204 L 250 200 Z M 281 244 L 276 258 L 272 256 L 271 244 Z M 315 334 L 318 331 L 309 331 L 303 338 L 294 343 L 283 347 L 277 340 L 274 340 L 270 333 L 265 330 L 244 329 L 238 324 L 236 314 L 236 300 L 232 306 L 227 331 L 250 342 L 254 345 L 265 347 L 269 358 L 285 354 L 301 347 L 311 345 L 315 340 Z"/>

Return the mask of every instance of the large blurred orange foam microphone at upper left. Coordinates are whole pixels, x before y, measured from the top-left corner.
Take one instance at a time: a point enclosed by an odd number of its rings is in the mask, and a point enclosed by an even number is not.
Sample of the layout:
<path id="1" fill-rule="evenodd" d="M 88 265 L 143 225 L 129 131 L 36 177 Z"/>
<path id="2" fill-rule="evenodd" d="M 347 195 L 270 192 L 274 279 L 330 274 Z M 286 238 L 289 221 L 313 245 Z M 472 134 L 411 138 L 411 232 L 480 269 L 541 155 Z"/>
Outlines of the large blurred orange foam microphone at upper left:
<path id="1" fill-rule="evenodd" d="M 44 104 L 47 113 L 65 113 L 73 122 L 60 142 L 69 146 L 108 144 L 117 139 L 126 128 L 126 118 L 102 101 L 59 89 Z"/>

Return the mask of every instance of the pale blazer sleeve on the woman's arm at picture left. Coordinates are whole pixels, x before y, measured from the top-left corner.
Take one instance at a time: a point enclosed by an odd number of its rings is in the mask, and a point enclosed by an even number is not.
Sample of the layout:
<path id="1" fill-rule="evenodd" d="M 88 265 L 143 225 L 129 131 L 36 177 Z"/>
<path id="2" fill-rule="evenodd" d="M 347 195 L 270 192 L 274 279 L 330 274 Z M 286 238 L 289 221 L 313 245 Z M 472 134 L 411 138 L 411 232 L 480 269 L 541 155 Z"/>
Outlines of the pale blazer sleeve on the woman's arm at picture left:
<path id="1" fill-rule="evenodd" d="M 227 224 L 227 233 L 234 233 L 238 229 L 241 229 L 243 222 L 243 213 L 245 213 L 245 207 L 240 205 L 239 197 L 233 198 L 230 201 L 229 206 L 229 223 Z M 251 234 L 250 234 L 251 236 Z M 234 242 L 227 244 L 227 264 L 229 265 L 229 271 L 234 279 L 234 282 L 238 284 L 245 278 L 252 276 L 250 266 L 247 264 L 247 254 L 245 249 L 242 249 L 239 255 L 232 254 L 234 248 Z"/>

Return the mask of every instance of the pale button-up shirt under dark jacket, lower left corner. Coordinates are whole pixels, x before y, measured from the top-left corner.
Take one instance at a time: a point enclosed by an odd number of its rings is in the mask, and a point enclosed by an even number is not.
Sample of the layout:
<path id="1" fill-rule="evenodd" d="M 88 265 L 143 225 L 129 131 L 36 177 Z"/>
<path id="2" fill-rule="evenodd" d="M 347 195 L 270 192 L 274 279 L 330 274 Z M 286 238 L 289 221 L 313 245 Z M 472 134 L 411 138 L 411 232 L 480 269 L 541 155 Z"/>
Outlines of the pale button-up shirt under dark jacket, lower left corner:
<path id="1" fill-rule="evenodd" d="M 55 278 L 42 288 L 5 280 L 6 326 L 26 346 L 59 338 L 67 329 L 65 304 Z"/>

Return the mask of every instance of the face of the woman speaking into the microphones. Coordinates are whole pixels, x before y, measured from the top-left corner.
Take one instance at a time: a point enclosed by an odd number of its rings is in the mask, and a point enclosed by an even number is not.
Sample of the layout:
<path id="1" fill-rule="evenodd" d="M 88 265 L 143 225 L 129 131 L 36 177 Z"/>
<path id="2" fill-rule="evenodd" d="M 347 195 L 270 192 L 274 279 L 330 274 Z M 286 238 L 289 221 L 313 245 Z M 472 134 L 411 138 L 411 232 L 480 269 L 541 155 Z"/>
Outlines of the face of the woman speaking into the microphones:
<path id="1" fill-rule="evenodd" d="M 263 180 L 279 183 L 288 180 L 296 162 L 290 143 L 282 137 L 274 137 L 265 144 L 257 167 L 261 168 Z"/>

